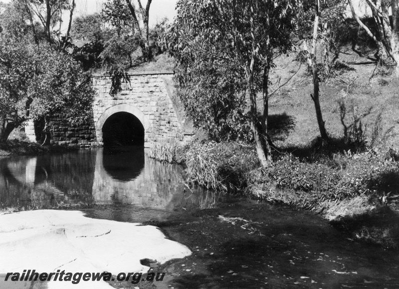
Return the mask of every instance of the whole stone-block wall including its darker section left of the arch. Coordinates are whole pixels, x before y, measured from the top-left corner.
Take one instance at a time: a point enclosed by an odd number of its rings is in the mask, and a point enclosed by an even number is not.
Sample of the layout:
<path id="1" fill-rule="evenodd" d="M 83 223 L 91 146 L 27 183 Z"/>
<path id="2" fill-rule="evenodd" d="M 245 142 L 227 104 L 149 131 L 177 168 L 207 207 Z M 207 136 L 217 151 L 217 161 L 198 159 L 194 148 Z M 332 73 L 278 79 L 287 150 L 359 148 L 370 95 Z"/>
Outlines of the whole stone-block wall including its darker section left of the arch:
<path id="1" fill-rule="evenodd" d="M 102 145 L 102 126 L 111 115 L 118 112 L 131 113 L 140 120 L 145 130 L 145 146 L 152 142 L 182 141 L 185 137 L 184 126 L 167 87 L 173 73 L 133 73 L 129 77 L 130 82 L 122 83 L 122 91 L 111 96 L 110 77 L 93 76 L 93 87 L 97 94 L 92 118 L 71 124 L 62 115 L 55 115 L 51 121 L 51 142 L 71 146 Z M 32 129 L 29 126 L 27 129 L 29 138 L 33 140 Z"/>

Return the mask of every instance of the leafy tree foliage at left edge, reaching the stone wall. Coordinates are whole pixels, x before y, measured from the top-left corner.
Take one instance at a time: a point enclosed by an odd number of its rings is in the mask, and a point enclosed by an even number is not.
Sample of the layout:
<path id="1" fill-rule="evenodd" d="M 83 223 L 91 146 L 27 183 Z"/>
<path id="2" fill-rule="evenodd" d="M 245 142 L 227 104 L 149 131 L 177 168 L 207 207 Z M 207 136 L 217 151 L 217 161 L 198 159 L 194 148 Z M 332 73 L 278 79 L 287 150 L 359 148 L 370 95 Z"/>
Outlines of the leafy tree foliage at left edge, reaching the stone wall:
<path id="1" fill-rule="evenodd" d="M 70 120 L 87 117 L 93 97 L 89 75 L 70 56 L 0 36 L 1 141 L 27 119 L 60 111 Z"/>

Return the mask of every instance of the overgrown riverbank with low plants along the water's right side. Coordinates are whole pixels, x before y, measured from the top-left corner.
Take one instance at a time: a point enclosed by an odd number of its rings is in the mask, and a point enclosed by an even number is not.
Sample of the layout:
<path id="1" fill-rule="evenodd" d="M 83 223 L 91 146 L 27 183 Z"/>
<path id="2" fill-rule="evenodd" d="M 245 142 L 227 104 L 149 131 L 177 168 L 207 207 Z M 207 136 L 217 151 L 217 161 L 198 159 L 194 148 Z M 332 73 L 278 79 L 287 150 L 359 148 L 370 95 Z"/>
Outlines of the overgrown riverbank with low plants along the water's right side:
<path id="1" fill-rule="evenodd" d="M 356 145 L 282 146 L 265 169 L 253 146 L 237 143 L 197 142 L 171 158 L 183 160 L 188 185 L 313 211 L 352 239 L 397 249 L 399 151 Z"/>

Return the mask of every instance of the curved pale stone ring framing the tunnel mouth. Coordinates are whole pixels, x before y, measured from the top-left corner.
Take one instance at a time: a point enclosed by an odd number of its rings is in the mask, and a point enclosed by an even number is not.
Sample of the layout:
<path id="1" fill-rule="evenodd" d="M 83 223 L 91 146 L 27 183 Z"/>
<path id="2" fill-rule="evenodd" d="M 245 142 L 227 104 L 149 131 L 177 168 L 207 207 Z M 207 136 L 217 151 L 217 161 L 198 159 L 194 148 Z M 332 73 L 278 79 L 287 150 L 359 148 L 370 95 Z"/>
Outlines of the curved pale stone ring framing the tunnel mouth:
<path id="1" fill-rule="evenodd" d="M 117 113 L 129 113 L 141 122 L 144 128 L 144 146 L 148 147 L 148 135 L 151 132 L 151 124 L 144 113 L 142 113 L 137 107 L 129 104 L 118 104 L 112 106 L 101 114 L 95 123 L 97 142 L 103 144 L 103 126 L 112 115 Z"/>

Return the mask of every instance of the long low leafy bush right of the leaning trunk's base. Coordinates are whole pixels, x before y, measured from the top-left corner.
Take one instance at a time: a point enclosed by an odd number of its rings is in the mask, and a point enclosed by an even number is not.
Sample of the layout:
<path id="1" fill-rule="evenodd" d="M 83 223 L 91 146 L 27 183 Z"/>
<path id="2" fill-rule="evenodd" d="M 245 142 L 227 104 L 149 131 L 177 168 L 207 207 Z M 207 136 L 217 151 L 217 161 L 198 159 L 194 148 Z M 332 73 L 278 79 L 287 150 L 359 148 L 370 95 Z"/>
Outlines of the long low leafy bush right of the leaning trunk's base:
<path id="1" fill-rule="evenodd" d="M 361 195 L 379 199 L 387 194 L 396 195 L 399 193 L 399 164 L 391 154 L 381 150 L 354 155 L 348 152 L 334 154 L 332 161 L 312 163 L 285 155 L 273 167 L 263 170 L 262 178 L 252 179 L 251 184 L 257 185 L 250 188 L 250 193 L 259 195 L 260 187 L 266 191 L 275 186 L 310 193 L 314 202 L 341 201 Z"/>

